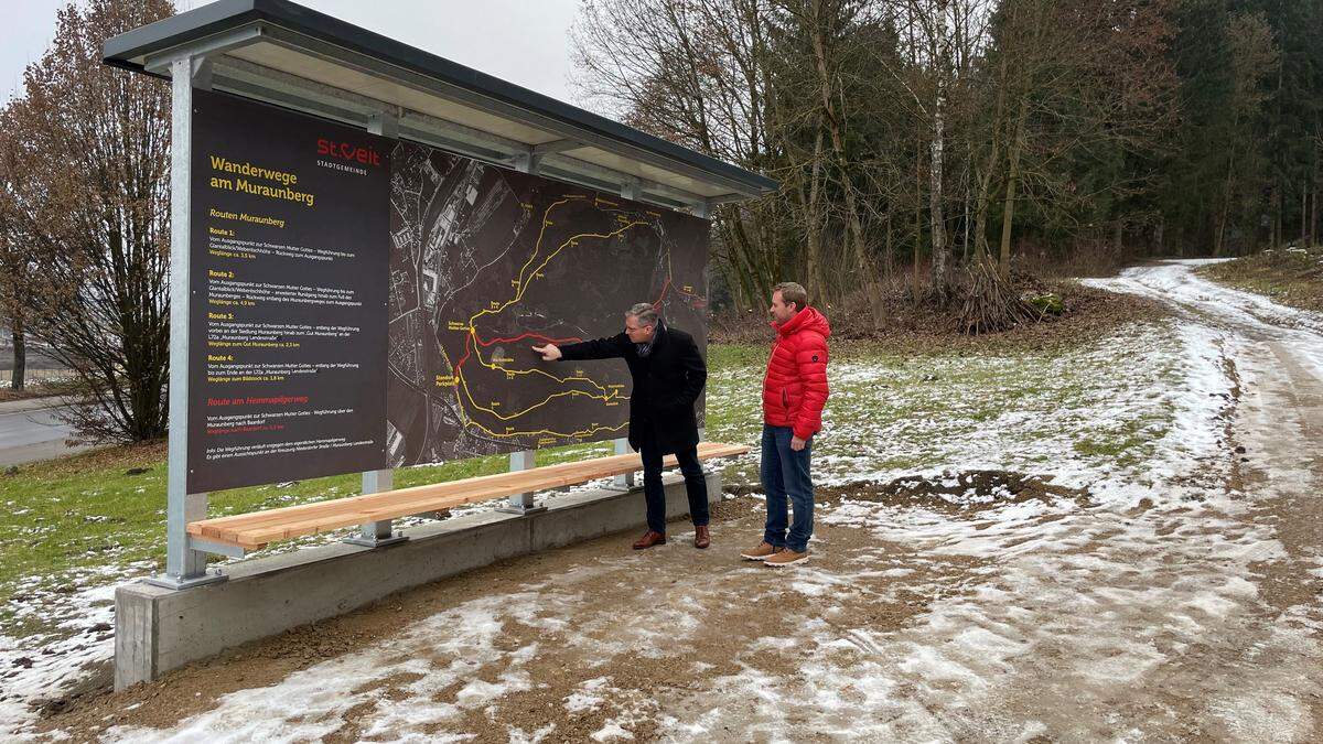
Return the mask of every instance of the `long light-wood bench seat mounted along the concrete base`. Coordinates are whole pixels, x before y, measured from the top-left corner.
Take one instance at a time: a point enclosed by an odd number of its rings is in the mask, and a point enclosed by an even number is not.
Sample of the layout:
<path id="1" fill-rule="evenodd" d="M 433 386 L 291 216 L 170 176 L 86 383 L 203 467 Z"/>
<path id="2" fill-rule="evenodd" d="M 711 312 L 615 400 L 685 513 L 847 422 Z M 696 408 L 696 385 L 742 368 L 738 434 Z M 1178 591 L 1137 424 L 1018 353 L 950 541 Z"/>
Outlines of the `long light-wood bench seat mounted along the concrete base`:
<path id="1" fill-rule="evenodd" d="M 734 457 L 747 451 L 749 447 L 744 445 L 699 443 L 699 459 Z M 675 467 L 675 465 L 673 455 L 665 458 L 665 467 Z M 369 522 L 398 519 L 515 494 L 560 488 L 642 469 L 643 462 L 636 453 L 618 454 L 253 514 L 201 519 L 188 523 L 188 534 L 209 543 L 255 551 L 277 540 L 316 535 Z"/>

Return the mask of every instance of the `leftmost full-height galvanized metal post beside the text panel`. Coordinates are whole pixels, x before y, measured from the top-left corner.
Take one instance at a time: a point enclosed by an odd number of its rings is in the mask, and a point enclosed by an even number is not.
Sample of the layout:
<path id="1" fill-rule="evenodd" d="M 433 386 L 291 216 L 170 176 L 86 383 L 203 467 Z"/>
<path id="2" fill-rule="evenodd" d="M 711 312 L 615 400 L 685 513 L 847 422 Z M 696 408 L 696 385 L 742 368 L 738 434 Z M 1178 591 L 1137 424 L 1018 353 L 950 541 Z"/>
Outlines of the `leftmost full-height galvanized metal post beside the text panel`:
<path id="1" fill-rule="evenodd" d="M 173 60 L 171 68 L 171 248 L 169 248 L 169 455 L 165 485 L 165 573 L 147 580 L 156 586 L 185 589 L 225 581 L 208 573 L 206 553 L 193 549 L 188 523 L 206 519 L 206 494 L 188 492 L 188 326 L 192 287 L 189 238 L 192 225 L 193 77 L 204 61 Z M 205 74 L 204 83 L 205 81 Z"/>

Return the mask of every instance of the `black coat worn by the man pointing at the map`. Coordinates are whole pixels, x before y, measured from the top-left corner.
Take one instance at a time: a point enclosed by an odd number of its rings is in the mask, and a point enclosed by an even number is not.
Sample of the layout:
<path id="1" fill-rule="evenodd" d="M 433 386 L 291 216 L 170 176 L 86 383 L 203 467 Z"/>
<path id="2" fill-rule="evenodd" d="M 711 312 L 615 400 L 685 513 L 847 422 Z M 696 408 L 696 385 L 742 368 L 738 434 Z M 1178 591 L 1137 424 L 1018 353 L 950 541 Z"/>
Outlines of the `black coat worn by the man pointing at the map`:
<path id="1" fill-rule="evenodd" d="M 630 395 L 630 446 L 635 450 L 650 437 L 663 454 L 699 443 L 699 421 L 693 405 L 708 381 L 708 365 L 693 336 L 679 328 L 663 327 L 652 352 L 639 356 L 639 348 L 624 332 L 560 347 L 561 359 L 623 359 L 634 377 Z"/>

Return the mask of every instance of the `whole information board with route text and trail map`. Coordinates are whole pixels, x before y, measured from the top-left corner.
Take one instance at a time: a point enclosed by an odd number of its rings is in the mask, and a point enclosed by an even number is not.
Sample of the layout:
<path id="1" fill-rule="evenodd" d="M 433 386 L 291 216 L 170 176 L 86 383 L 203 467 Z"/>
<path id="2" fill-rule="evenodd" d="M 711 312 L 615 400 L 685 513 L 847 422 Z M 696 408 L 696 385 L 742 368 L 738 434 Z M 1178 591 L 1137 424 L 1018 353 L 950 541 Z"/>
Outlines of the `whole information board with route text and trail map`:
<path id="1" fill-rule="evenodd" d="M 191 167 L 191 492 L 623 437 L 623 361 L 531 347 L 706 338 L 697 217 L 206 91 Z"/>

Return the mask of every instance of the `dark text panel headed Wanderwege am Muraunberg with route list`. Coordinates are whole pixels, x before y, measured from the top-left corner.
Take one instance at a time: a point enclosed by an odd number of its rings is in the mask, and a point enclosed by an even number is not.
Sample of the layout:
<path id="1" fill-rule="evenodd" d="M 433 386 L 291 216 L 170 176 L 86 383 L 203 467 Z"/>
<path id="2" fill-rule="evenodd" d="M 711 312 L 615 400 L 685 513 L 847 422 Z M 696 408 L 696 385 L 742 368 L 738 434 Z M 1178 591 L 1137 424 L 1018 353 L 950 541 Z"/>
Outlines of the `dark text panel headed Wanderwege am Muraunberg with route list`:
<path id="1" fill-rule="evenodd" d="M 390 140 L 193 95 L 188 490 L 382 467 Z"/>

